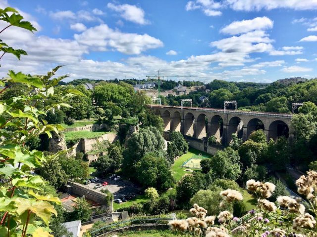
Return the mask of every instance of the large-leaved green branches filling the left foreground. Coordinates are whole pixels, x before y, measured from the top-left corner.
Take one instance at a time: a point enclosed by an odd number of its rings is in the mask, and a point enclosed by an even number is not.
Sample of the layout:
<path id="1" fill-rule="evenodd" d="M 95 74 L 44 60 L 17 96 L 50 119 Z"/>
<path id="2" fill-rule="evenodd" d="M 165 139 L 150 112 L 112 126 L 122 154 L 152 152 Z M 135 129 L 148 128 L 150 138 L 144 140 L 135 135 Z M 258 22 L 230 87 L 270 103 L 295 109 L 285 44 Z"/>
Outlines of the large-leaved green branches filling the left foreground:
<path id="1" fill-rule="evenodd" d="M 36 30 L 31 23 L 22 21 L 23 17 L 17 13 L 10 7 L 0 9 L 0 21 L 8 24 L 1 32 L 12 26 Z M 0 50 L 5 54 L 12 53 L 17 58 L 26 54 L 23 50 L 10 48 L 3 41 L 0 41 Z M 51 215 L 57 215 L 57 211 L 51 203 L 60 204 L 60 200 L 46 192 L 39 193 L 44 180 L 39 175 L 33 175 L 32 171 L 67 151 L 46 156 L 43 152 L 29 149 L 32 141 L 35 144 L 35 137 L 44 134 L 52 137 L 51 132 L 58 133 L 62 129 L 60 125 L 48 124 L 40 118 L 46 117 L 49 111 L 59 110 L 61 106 L 69 106 L 65 100 L 74 96 L 72 92 L 61 92 L 54 103 L 46 103 L 53 98 L 54 87 L 58 82 L 67 77 L 53 78 L 59 68 L 60 66 L 54 68 L 44 76 L 25 75 L 10 70 L 8 77 L 0 81 L 0 85 L 5 86 L 0 94 L 8 86 L 15 88 L 9 89 L 0 100 L 0 175 L 11 181 L 1 183 L 1 236 L 44 237 L 50 236 L 49 232 L 52 232 L 48 227 Z M 17 93 L 18 87 L 25 89 Z"/>

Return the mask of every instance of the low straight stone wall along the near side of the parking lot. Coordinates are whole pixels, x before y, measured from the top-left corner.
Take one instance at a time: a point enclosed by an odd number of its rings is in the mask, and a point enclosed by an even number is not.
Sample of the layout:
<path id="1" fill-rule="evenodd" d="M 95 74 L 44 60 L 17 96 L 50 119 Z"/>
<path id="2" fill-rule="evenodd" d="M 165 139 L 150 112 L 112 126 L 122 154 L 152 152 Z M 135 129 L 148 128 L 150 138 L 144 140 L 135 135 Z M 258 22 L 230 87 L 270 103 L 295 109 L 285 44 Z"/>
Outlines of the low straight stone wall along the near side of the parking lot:
<path id="1" fill-rule="evenodd" d="M 76 182 L 67 181 L 67 184 L 70 186 L 70 190 L 67 190 L 68 193 L 74 194 L 78 197 L 85 196 L 85 198 L 89 200 L 92 200 L 101 204 L 106 204 L 106 197 L 107 197 L 106 194 Z M 108 209 L 112 212 L 112 203 L 108 207 Z"/>

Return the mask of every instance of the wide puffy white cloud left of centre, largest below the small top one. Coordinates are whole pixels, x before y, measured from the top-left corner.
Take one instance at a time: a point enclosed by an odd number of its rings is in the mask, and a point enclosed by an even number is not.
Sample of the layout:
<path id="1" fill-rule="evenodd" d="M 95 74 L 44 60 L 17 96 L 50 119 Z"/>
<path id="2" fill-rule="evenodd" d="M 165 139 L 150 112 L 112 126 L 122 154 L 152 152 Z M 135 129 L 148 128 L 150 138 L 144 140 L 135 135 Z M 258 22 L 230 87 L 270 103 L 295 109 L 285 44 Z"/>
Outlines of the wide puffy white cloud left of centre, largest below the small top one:
<path id="1" fill-rule="evenodd" d="M 96 51 L 112 49 L 124 54 L 140 54 L 148 49 L 163 46 L 162 41 L 148 34 L 123 33 L 110 29 L 106 24 L 89 28 L 80 35 L 75 34 L 74 38 Z"/>

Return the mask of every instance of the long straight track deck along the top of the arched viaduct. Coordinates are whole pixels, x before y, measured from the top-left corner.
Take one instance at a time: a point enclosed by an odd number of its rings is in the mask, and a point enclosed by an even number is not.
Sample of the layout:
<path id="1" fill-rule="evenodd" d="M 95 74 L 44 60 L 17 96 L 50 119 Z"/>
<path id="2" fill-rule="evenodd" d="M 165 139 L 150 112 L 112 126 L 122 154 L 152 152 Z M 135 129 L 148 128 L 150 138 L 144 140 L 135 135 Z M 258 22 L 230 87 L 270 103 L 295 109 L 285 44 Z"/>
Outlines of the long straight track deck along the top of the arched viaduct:
<path id="1" fill-rule="evenodd" d="M 236 114 L 236 115 L 252 115 L 252 116 L 264 116 L 264 117 L 275 117 L 275 118 L 292 118 L 291 114 L 282 113 L 270 113 L 270 112 L 255 112 L 255 111 L 242 111 L 242 110 L 223 110 L 223 109 L 212 109 L 212 108 L 199 108 L 199 107 L 181 107 L 181 106 L 170 106 L 170 105 L 151 105 L 151 107 L 166 108 L 166 109 L 183 109 L 183 110 L 194 110 L 202 112 L 215 112 L 224 114 Z"/>

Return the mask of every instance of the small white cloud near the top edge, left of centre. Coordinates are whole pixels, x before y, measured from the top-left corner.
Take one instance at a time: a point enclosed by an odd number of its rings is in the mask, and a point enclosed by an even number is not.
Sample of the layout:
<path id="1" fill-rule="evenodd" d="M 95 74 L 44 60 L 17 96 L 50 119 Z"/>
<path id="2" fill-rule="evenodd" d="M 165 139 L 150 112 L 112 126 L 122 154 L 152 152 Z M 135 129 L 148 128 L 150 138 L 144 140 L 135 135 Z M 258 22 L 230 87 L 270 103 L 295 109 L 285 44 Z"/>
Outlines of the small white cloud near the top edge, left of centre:
<path id="1" fill-rule="evenodd" d="M 107 7 L 111 10 L 121 13 L 121 17 L 127 21 L 132 21 L 140 25 L 149 24 L 149 21 L 146 20 L 144 10 L 136 5 L 122 4 L 114 5 L 109 2 Z"/>

